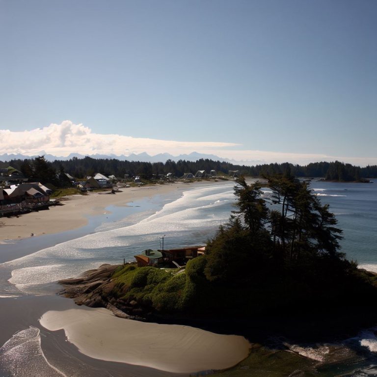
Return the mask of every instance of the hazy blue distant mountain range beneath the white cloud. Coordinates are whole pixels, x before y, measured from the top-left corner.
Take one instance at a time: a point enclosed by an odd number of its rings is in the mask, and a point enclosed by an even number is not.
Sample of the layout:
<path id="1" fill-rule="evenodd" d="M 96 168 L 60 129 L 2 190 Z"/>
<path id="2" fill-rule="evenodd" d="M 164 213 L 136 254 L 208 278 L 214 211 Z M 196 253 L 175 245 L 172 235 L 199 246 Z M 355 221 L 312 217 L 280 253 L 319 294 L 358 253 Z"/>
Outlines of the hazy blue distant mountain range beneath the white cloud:
<path id="1" fill-rule="evenodd" d="M 69 156 L 67 157 L 57 157 L 57 156 L 53 156 L 53 155 L 49 155 L 47 153 L 43 153 L 43 151 L 39 154 L 39 156 L 42 156 L 44 155 L 45 156 L 45 159 L 47 161 L 54 161 L 54 160 L 62 160 L 62 161 L 65 161 L 65 160 L 70 160 L 74 157 L 77 157 L 78 159 L 83 159 L 85 157 L 85 155 L 81 155 L 79 153 L 71 153 Z M 21 154 L 8 154 L 8 153 L 5 153 L 3 155 L 0 155 L 0 161 L 10 161 L 10 160 L 25 160 L 25 159 L 33 159 L 35 157 L 37 157 L 38 155 L 35 155 L 35 156 L 25 156 L 25 155 L 21 155 Z M 86 155 L 88 156 L 88 155 Z M 129 156 L 125 156 L 125 155 L 121 155 L 121 156 L 116 156 L 116 155 L 100 155 L 100 154 L 96 154 L 96 155 L 90 155 L 89 157 L 93 158 L 93 159 L 117 159 L 117 160 L 121 160 L 121 161 L 124 161 L 124 160 L 127 160 L 127 161 L 140 161 L 140 162 L 166 162 L 167 160 L 172 160 L 172 161 L 179 161 L 179 160 L 186 160 L 186 161 L 197 161 L 197 160 L 200 160 L 200 159 L 208 159 L 208 160 L 212 160 L 212 161 L 225 161 L 225 162 L 231 162 L 231 163 L 237 163 L 237 161 L 234 161 L 234 160 L 229 160 L 229 159 L 223 159 L 221 157 L 218 157 L 218 156 L 215 156 L 215 155 L 207 155 L 207 154 L 203 154 L 203 153 L 197 153 L 197 152 L 192 152 L 190 154 L 184 154 L 184 155 L 179 155 L 179 156 L 173 156 L 169 153 L 160 153 L 158 155 L 155 155 L 155 156 L 150 156 L 148 155 L 148 153 L 146 152 L 143 152 L 143 153 L 140 153 L 140 154 L 131 154 Z"/>

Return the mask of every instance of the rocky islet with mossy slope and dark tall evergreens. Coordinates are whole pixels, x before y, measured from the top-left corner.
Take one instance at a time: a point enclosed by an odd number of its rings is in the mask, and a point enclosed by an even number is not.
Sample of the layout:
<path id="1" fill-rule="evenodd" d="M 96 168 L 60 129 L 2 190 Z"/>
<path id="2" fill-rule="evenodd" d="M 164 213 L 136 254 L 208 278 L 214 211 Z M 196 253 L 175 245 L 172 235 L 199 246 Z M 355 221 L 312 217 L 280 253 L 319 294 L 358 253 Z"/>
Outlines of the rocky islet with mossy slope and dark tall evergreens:
<path id="1" fill-rule="evenodd" d="M 375 310 L 360 318 L 359 309 L 367 302 L 376 309 L 377 276 L 339 251 L 342 230 L 328 205 L 289 173 L 266 179 L 269 199 L 262 199 L 260 183 L 237 179 L 238 209 L 185 269 L 104 265 L 60 281 L 62 294 L 119 317 L 249 339 L 271 332 L 299 337 L 300 328 L 319 339 L 375 323 Z"/>

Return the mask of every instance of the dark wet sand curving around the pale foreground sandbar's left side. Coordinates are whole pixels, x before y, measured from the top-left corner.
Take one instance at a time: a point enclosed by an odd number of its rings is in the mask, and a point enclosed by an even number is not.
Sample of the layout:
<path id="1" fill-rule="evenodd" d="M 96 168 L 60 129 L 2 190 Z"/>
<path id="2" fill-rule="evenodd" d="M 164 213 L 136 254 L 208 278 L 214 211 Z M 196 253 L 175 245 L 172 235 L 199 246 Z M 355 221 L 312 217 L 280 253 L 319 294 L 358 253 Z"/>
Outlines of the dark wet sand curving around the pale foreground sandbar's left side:
<path id="1" fill-rule="evenodd" d="M 12 338 L 12 335 L 18 331 L 29 329 L 34 326 L 40 329 L 40 350 L 44 358 L 36 360 L 34 357 L 31 361 L 34 365 L 25 364 L 27 350 L 30 351 L 27 342 L 27 349 L 19 347 L 19 352 L 12 355 L 12 362 L 18 366 L 16 376 L 20 377 L 47 377 L 50 376 L 52 366 L 56 368 L 63 376 L 75 377 L 180 377 L 187 374 L 169 373 L 159 371 L 153 368 L 147 368 L 137 365 L 103 361 L 89 357 L 81 353 L 78 348 L 71 342 L 67 341 L 63 330 L 50 331 L 45 329 L 39 323 L 39 319 L 49 310 L 64 311 L 76 310 L 78 306 L 70 298 L 61 296 L 20 296 L 14 298 L 0 298 L 2 308 L 0 321 L 0 347 Z M 89 308 L 82 308 L 86 310 Z M 35 347 L 36 349 L 36 347 Z M 38 352 L 35 352 L 38 355 Z M 7 365 L 6 357 L 0 352 L 0 376 L 11 377 Z M 38 362 L 39 361 L 39 362 Z M 35 365 L 36 364 L 36 365 Z M 32 371 L 38 368 L 39 374 L 32 374 Z M 45 371 L 46 373 L 44 373 Z"/>

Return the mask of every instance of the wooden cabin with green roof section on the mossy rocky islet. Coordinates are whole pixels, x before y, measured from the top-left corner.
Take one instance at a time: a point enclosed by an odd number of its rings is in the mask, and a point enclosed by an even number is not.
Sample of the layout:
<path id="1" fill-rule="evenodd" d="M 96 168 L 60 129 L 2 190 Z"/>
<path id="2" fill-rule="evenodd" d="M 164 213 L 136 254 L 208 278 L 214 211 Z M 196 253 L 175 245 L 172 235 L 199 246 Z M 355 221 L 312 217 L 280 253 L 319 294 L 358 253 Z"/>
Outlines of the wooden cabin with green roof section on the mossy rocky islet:
<path id="1" fill-rule="evenodd" d="M 168 266 L 183 267 L 186 263 L 200 255 L 205 254 L 205 246 L 189 246 L 179 249 L 168 250 L 144 250 L 142 253 L 135 255 L 137 267 L 145 266 Z"/>

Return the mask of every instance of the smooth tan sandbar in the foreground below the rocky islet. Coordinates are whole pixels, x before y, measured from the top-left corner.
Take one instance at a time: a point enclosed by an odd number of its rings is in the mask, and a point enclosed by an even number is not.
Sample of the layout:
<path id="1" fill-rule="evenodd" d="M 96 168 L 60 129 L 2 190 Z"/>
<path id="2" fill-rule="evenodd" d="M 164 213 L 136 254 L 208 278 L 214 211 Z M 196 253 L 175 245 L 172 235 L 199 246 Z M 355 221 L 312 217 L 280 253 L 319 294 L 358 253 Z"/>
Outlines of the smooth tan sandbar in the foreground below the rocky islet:
<path id="1" fill-rule="evenodd" d="M 104 308 L 48 311 L 40 323 L 51 331 L 64 329 L 87 356 L 174 373 L 232 367 L 247 357 L 250 347 L 242 336 L 126 320 Z"/>

